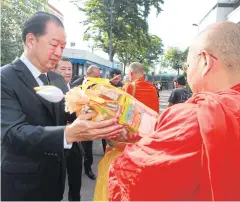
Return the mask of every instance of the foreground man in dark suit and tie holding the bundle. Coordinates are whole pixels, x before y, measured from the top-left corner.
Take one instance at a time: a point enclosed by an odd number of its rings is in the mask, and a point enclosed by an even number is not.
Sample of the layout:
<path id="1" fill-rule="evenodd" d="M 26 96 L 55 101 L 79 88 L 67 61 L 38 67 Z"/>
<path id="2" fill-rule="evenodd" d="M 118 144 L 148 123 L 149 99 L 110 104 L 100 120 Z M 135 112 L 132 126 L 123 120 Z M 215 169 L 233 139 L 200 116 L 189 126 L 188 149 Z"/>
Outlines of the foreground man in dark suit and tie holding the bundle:
<path id="1" fill-rule="evenodd" d="M 63 198 L 64 148 L 73 142 L 116 137 L 116 120 L 91 122 L 94 114 L 66 125 L 64 102 L 50 103 L 34 87 L 55 85 L 62 77 L 50 71 L 66 44 L 62 22 L 37 12 L 23 26 L 24 53 L 1 68 L 1 200 L 59 201 Z"/>

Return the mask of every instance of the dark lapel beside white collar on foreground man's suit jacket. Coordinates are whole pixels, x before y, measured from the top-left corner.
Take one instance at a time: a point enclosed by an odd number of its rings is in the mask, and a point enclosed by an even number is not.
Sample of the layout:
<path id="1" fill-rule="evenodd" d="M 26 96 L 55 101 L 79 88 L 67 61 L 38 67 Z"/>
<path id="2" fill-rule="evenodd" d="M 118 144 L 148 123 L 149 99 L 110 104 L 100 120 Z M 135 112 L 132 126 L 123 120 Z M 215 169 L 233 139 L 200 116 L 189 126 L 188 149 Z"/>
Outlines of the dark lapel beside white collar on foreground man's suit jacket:
<path id="1" fill-rule="evenodd" d="M 17 70 L 17 74 L 19 78 L 23 81 L 23 83 L 32 91 L 32 93 L 43 103 L 43 105 L 49 110 L 52 118 L 54 119 L 54 112 L 52 109 L 52 104 L 42 97 L 40 97 L 34 90 L 34 87 L 39 86 L 36 79 L 33 77 L 30 70 L 26 67 L 26 65 L 21 61 L 17 60 L 13 63 L 15 70 Z"/>

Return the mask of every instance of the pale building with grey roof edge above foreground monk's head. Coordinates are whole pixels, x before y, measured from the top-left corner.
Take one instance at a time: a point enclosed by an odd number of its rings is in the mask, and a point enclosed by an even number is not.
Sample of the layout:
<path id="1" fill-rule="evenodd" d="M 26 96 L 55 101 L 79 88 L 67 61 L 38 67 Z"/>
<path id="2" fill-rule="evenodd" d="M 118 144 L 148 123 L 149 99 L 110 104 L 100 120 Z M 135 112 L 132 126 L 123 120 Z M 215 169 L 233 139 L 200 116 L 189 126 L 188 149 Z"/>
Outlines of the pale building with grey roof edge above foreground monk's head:
<path id="1" fill-rule="evenodd" d="M 199 31 L 214 22 L 225 20 L 240 24 L 240 0 L 216 0 L 216 4 L 200 20 Z"/>

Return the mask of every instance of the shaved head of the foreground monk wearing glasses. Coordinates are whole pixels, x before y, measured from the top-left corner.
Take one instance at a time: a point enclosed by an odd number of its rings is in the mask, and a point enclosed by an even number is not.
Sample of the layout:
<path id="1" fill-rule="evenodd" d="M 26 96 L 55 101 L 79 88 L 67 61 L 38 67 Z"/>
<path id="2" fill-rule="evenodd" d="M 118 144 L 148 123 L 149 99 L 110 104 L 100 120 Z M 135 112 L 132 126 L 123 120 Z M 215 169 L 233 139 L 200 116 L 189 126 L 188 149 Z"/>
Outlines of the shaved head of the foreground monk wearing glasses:
<path id="1" fill-rule="evenodd" d="M 240 83 L 240 26 L 217 22 L 189 48 L 188 83 L 194 92 L 218 91 Z"/>

